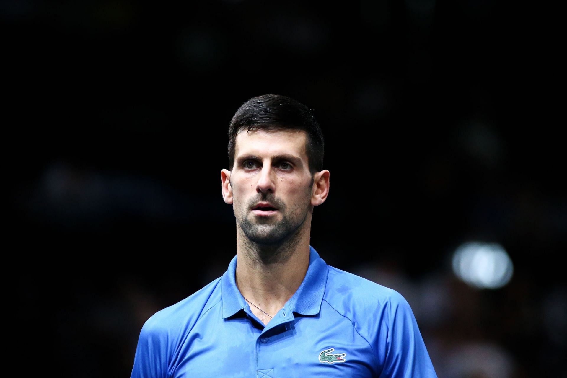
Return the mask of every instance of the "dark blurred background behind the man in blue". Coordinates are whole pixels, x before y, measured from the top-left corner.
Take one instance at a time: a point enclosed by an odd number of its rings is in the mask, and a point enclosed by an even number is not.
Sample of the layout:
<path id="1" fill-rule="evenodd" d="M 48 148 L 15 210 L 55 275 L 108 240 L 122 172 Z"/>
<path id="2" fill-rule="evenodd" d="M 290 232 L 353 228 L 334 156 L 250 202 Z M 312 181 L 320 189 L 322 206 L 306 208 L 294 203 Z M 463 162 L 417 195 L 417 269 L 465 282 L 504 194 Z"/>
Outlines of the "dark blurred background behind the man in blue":
<path id="1" fill-rule="evenodd" d="M 311 245 L 408 299 L 440 378 L 566 377 L 546 17 L 486 0 L 2 1 L 19 368 L 129 376 L 147 318 L 222 275 L 227 128 L 270 93 L 325 135 Z"/>

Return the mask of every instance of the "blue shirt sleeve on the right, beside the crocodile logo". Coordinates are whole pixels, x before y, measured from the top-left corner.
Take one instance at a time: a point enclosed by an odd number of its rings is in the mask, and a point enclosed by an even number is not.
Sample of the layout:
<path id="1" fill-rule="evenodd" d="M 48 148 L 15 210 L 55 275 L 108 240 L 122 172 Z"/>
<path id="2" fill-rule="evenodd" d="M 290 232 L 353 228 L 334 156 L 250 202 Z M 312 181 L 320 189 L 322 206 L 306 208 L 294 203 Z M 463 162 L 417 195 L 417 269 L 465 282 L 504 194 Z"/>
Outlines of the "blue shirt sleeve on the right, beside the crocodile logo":
<path id="1" fill-rule="evenodd" d="M 397 294 L 389 305 L 386 359 L 380 378 L 437 378 L 407 300 Z"/>

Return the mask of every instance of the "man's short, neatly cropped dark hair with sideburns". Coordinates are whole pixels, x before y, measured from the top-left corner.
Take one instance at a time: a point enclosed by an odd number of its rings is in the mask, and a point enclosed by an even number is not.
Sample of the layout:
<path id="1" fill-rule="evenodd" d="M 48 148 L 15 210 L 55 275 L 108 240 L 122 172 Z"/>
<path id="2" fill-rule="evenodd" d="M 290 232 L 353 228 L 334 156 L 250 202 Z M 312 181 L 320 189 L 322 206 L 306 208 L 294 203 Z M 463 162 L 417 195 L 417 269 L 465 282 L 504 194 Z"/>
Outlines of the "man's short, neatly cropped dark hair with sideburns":
<path id="1" fill-rule="evenodd" d="M 307 159 L 311 173 L 323 170 L 323 132 L 315 116 L 305 105 L 290 97 L 263 95 L 253 97 L 242 104 L 230 121 L 229 165 L 234 168 L 236 135 L 244 129 L 255 130 L 303 130 L 307 133 Z"/>

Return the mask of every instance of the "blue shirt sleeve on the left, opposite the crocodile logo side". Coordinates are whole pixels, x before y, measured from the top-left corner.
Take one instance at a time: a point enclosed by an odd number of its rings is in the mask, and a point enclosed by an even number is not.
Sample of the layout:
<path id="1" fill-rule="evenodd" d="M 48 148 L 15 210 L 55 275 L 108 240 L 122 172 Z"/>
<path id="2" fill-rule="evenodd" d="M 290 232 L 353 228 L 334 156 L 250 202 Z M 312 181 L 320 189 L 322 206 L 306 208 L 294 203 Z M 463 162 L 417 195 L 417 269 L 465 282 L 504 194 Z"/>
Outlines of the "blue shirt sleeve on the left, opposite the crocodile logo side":
<path id="1" fill-rule="evenodd" d="M 130 378 L 166 378 L 168 372 L 167 332 L 149 318 L 143 325 Z"/>

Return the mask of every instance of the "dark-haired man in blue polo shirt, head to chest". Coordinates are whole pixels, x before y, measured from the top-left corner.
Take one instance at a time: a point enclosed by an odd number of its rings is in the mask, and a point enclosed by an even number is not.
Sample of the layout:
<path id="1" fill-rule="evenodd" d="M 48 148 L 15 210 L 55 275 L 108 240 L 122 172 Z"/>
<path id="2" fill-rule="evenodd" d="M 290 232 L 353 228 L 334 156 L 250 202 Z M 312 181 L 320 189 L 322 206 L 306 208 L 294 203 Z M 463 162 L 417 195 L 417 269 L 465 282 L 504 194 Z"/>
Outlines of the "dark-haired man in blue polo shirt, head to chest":
<path id="1" fill-rule="evenodd" d="M 221 179 L 236 256 L 221 278 L 146 321 L 132 377 L 435 377 L 407 301 L 310 246 L 329 171 L 309 109 L 255 97 L 229 137 Z"/>

